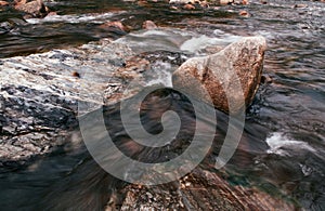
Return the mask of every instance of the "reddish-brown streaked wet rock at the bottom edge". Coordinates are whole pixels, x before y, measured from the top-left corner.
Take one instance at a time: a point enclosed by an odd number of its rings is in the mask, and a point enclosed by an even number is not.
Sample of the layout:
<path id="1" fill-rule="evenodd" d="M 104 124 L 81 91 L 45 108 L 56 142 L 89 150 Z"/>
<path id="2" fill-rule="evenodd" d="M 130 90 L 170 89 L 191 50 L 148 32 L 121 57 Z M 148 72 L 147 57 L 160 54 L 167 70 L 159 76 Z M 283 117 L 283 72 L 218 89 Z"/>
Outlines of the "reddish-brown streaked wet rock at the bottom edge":
<path id="1" fill-rule="evenodd" d="M 120 210 L 295 210 L 290 202 L 261 190 L 231 185 L 218 172 L 195 169 L 179 182 L 129 185 Z"/>

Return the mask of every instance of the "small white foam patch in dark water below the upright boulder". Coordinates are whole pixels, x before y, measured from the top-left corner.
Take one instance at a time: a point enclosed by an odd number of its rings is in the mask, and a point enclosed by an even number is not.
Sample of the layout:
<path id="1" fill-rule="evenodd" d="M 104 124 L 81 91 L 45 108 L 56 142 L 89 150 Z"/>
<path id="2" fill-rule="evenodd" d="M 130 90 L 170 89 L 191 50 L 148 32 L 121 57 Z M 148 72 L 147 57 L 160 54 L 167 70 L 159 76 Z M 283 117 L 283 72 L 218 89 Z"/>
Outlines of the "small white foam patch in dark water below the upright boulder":
<path id="1" fill-rule="evenodd" d="M 289 140 L 286 135 L 280 132 L 273 133 L 266 139 L 266 143 L 270 146 L 268 154 L 276 154 L 281 156 L 289 156 L 289 150 L 302 149 L 315 153 L 316 150 L 308 143 L 302 141 Z"/>

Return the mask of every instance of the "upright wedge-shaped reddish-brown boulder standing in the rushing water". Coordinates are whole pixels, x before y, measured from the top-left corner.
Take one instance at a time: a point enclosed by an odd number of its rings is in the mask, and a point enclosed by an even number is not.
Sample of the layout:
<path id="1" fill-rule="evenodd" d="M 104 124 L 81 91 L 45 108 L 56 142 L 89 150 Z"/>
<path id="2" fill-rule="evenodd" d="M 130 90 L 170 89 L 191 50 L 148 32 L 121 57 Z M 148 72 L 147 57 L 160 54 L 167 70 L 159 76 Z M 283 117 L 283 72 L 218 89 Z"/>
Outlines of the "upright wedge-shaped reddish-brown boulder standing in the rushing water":
<path id="1" fill-rule="evenodd" d="M 225 113 L 230 108 L 236 113 L 252 102 L 261 80 L 265 49 L 264 38 L 248 37 L 219 53 L 190 58 L 173 72 L 173 87 L 211 101 Z"/>

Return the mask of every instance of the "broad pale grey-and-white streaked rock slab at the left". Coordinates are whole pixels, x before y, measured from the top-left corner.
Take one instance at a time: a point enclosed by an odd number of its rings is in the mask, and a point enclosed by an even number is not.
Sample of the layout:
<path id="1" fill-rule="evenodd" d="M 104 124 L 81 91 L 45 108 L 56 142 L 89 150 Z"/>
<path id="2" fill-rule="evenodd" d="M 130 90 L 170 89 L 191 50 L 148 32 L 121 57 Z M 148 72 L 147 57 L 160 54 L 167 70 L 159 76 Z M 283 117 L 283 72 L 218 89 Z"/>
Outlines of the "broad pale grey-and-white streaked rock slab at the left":
<path id="1" fill-rule="evenodd" d="M 139 77 L 142 66 L 129 62 L 133 57 L 129 48 L 102 40 L 76 49 L 1 60 L 1 164 L 24 163 L 64 144 L 63 137 L 78 124 L 78 102 L 92 103 L 93 107 L 110 104 L 112 95 L 122 91 L 127 77 Z"/>

